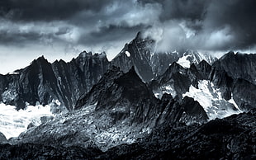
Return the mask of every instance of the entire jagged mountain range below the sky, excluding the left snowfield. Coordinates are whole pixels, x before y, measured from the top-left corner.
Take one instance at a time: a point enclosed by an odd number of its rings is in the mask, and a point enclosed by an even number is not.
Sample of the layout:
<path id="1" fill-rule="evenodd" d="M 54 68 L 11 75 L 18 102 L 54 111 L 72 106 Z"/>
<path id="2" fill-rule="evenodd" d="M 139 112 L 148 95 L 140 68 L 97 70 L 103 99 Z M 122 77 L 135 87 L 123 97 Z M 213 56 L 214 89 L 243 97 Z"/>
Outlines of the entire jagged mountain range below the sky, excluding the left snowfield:
<path id="1" fill-rule="evenodd" d="M 51 104 L 56 114 L 17 138 L 0 134 L 0 157 L 256 158 L 256 55 L 155 45 L 139 32 L 111 61 L 104 52 L 53 64 L 42 56 L 0 75 L 2 103 Z"/>

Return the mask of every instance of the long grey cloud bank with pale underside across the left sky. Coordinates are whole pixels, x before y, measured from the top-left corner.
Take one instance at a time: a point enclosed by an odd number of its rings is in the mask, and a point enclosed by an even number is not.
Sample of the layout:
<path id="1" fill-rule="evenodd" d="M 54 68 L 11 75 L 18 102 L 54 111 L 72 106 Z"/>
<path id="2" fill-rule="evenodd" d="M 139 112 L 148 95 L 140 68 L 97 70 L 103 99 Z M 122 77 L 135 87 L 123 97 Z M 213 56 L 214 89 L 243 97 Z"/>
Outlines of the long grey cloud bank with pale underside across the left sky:
<path id="1" fill-rule="evenodd" d="M 127 32 L 130 32 L 132 35 L 140 31 L 157 21 L 160 11 L 159 4 L 142 6 L 134 0 L 1 1 L 0 22 L 4 25 L 0 27 L 0 33 L 7 32 L 7 38 L 0 41 L 2 45 L 14 44 L 20 39 L 21 43 L 26 43 L 26 40 L 30 43 L 31 34 L 38 31 L 39 36 L 34 36 L 35 41 L 41 40 L 44 35 L 52 34 L 45 39 L 70 35 L 73 37 L 73 43 L 87 43 L 78 45 L 90 45 L 94 42 L 102 44 L 103 40 L 124 39 L 120 33 L 128 35 Z M 24 26 L 28 27 L 24 29 Z M 102 35 L 92 36 L 99 33 Z M 65 38 L 68 39 L 67 36 Z M 62 40 L 63 37 L 59 39 Z"/>

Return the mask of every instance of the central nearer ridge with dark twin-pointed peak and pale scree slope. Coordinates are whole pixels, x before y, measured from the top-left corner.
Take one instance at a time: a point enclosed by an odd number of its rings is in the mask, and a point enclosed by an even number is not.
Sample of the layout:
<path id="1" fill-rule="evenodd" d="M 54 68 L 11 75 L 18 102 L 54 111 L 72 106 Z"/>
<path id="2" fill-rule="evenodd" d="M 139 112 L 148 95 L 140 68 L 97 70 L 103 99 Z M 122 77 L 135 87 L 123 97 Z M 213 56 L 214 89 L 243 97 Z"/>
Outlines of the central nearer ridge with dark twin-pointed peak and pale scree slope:
<path id="1" fill-rule="evenodd" d="M 113 67 L 91 91 L 81 96 L 76 110 L 59 115 L 13 139 L 12 144 L 95 147 L 106 151 L 119 144 L 132 144 L 163 123 L 205 123 L 206 112 L 197 101 L 185 97 L 178 102 L 165 94 L 154 97 L 130 68 Z"/>

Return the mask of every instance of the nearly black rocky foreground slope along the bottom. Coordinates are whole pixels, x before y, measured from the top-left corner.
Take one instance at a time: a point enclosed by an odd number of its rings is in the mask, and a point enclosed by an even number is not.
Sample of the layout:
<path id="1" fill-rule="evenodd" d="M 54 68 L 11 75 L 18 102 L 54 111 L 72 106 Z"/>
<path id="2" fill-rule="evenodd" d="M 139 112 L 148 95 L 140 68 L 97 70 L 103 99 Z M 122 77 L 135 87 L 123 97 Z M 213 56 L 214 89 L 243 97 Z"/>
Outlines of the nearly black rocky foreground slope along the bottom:
<path id="1" fill-rule="evenodd" d="M 4 159 L 254 159 L 256 158 L 255 114 L 256 112 L 252 110 L 223 120 L 211 120 L 201 126 L 165 123 L 157 126 L 150 134 L 138 139 L 134 144 L 117 145 L 104 153 L 93 147 L 31 143 L 0 144 L 0 157 Z"/>

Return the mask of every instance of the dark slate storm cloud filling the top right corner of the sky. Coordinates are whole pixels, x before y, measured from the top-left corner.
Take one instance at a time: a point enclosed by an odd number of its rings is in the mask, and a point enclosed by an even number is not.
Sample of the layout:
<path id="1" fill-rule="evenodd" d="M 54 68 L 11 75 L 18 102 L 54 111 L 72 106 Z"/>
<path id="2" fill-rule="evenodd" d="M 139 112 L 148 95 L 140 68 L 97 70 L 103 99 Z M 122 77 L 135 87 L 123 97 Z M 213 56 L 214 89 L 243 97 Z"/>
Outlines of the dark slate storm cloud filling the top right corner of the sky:
<path id="1" fill-rule="evenodd" d="M 231 48 L 247 48 L 256 44 L 256 1 L 215 1 L 207 8 L 204 28 L 220 30 L 229 27 L 234 37 Z"/>

